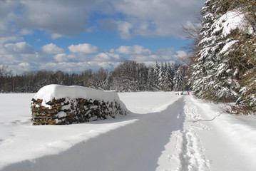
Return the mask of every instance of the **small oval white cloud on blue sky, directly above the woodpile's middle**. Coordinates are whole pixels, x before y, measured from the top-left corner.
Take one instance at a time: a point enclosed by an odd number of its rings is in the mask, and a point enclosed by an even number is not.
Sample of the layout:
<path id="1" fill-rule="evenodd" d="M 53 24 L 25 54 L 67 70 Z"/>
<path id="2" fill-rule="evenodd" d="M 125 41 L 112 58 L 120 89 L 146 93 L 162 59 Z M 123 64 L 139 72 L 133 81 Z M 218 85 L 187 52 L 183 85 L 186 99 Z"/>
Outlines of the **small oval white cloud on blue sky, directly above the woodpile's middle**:
<path id="1" fill-rule="evenodd" d="M 98 51 L 97 46 L 93 46 L 89 43 L 71 45 L 71 46 L 68 46 L 68 49 L 72 53 L 96 53 Z"/>

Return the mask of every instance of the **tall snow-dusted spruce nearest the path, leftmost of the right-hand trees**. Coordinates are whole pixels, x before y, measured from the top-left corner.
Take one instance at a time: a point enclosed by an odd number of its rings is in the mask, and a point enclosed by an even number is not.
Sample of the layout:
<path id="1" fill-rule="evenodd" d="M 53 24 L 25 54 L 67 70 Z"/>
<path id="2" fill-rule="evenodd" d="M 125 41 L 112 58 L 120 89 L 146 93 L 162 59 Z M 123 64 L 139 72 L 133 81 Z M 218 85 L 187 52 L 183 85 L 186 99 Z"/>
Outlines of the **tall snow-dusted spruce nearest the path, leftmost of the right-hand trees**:
<path id="1" fill-rule="evenodd" d="M 201 10 L 203 28 L 202 40 L 198 44 L 198 59 L 195 63 L 192 81 L 193 91 L 199 98 L 215 102 L 231 101 L 237 98 L 234 91 L 239 88 L 232 61 L 222 55 L 222 48 L 230 42 L 223 31 L 220 18 L 232 7 L 234 1 L 208 0 Z"/>

